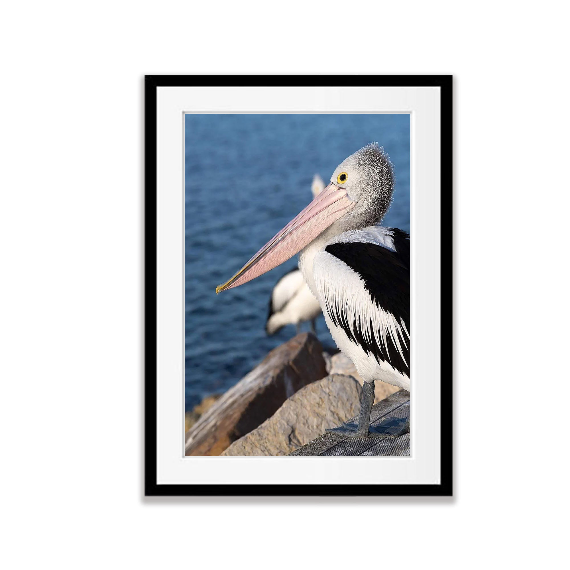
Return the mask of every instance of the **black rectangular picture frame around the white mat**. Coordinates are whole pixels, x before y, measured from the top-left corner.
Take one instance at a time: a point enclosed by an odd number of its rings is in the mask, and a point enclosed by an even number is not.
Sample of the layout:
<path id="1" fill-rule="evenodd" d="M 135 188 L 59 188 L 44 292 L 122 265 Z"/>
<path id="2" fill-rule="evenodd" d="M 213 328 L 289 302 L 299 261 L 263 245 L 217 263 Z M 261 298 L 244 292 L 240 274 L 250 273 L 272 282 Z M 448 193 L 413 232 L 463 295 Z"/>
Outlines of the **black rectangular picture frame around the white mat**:
<path id="1" fill-rule="evenodd" d="M 333 87 L 336 75 L 146 75 L 145 76 L 145 496 L 451 496 L 452 417 L 452 244 L 441 240 L 441 482 L 439 484 L 158 484 L 157 483 L 157 88 L 159 87 Z M 441 231 L 453 235 L 452 76 L 344 75 L 343 86 L 439 87 L 441 89 Z M 444 234 L 445 230 L 445 234 Z"/>

